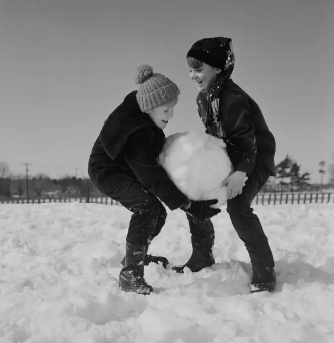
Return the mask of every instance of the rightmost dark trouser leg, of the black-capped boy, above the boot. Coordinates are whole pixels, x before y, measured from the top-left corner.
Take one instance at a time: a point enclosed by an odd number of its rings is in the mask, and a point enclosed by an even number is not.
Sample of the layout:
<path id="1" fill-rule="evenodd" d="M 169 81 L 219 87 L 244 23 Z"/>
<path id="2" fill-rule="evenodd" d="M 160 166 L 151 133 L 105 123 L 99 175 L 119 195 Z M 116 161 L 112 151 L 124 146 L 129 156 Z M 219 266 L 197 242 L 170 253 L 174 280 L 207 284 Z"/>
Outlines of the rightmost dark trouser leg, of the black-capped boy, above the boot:
<path id="1" fill-rule="evenodd" d="M 260 220 L 250 207 L 250 202 L 269 179 L 269 176 L 269 170 L 256 166 L 248 175 L 242 193 L 227 201 L 227 212 L 235 231 L 246 246 L 255 271 L 275 266 L 273 254 Z"/>

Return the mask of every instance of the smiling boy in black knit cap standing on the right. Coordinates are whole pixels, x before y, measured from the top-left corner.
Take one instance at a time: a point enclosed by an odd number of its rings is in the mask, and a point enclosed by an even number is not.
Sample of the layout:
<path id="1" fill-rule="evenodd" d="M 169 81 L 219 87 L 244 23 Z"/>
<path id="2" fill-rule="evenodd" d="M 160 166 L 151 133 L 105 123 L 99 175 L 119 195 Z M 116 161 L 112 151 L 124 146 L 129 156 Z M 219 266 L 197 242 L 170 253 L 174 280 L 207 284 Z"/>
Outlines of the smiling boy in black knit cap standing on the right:
<path id="1" fill-rule="evenodd" d="M 233 164 L 234 172 L 225 183 L 229 197 L 227 212 L 249 253 L 253 270 L 250 290 L 273 291 L 276 284 L 273 254 L 250 205 L 269 177 L 276 176 L 275 138 L 256 102 L 231 79 L 234 53 L 230 38 L 196 41 L 187 53 L 187 64 L 190 79 L 199 91 L 196 99 L 199 117 L 207 133 L 224 140 Z M 243 187 L 245 176 L 248 179 Z M 212 225 L 210 219 L 206 222 Z M 189 264 L 191 258 L 185 266 Z"/>

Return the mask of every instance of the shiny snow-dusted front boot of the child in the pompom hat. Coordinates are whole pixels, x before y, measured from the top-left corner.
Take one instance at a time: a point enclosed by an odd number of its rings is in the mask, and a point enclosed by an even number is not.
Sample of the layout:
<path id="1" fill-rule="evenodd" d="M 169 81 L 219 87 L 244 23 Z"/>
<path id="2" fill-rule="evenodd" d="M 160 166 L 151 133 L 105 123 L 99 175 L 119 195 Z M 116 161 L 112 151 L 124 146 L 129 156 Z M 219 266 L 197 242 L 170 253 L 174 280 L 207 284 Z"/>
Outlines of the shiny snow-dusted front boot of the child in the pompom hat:
<path id="1" fill-rule="evenodd" d="M 146 247 L 136 247 L 126 242 L 124 267 L 119 273 L 119 287 L 124 292 L 149 295 L 153 292 L 144 279 L 144 262 Z"/>

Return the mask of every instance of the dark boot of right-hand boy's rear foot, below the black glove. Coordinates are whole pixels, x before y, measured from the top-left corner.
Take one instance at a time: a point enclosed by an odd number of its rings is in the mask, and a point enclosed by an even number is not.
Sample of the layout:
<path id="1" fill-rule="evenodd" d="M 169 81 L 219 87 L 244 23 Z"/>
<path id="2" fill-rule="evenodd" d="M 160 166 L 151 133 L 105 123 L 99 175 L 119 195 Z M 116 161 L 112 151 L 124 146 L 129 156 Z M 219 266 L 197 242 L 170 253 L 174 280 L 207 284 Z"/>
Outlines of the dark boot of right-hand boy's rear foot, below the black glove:
<path id="1" fill-rule="evenodd" d="M 214 263 L 215 263 L 215 258 L 214 258 L 211 248 L 210 249 L 192 248 L 192 254 L 189 260 L 181 266 L 172 267 L 172 270 L 175 270 L 177 273 L 183 274 L 184 268 L 188 267 L 194 273 L 205 267 L 210 267 Z"/>

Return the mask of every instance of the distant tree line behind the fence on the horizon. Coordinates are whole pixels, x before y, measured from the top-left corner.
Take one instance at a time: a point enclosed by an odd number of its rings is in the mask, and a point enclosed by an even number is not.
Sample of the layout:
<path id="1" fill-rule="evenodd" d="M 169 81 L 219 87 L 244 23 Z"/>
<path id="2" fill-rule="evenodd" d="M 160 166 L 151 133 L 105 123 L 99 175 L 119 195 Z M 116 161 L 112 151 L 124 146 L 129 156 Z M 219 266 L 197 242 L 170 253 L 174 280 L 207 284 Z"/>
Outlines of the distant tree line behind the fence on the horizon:
<path id="1" fill-rule="evenodd" d="M 324 161 L 319 162 L 319 174 L 325 173 Z M 271 178 L 262 191 L 268 192 L 300 192 L 318 191 L 334 186 L 334 163 L 328 169 L 329 182 L 326 185 L 311 184 L 310 173 L 302 172 L 301 165 L 287 155 L 276 165 L 276 178 Z M 44 173 L 25 177 L 10 172 L 7 163 L 0 162 L 0 195 L 17 197 L 87 197 L 99 196 L 101 193 L 88 178 L 64 176 L 59 179 L 49 178 Z"/>

